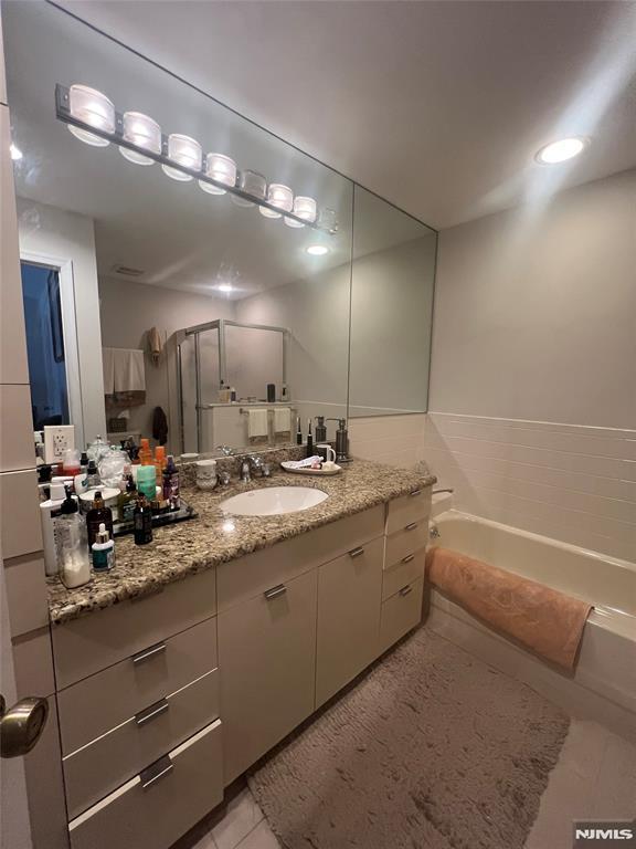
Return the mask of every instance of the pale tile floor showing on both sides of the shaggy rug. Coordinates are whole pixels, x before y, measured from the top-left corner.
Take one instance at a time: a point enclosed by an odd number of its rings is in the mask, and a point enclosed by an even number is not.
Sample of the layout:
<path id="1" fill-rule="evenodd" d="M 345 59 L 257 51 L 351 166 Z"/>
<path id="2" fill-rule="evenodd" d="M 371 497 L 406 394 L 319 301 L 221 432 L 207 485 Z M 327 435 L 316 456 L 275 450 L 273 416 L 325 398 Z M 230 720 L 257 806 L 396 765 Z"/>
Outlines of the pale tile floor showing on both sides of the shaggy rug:
<path id="1" fill-rule="evenodd" d="M 575 819 L 636 817 L 636 746 L 595 722 L 572 720 L 526 849 L 571 849 Z M 279 849 L 244 785 L 174 849 Z"/>

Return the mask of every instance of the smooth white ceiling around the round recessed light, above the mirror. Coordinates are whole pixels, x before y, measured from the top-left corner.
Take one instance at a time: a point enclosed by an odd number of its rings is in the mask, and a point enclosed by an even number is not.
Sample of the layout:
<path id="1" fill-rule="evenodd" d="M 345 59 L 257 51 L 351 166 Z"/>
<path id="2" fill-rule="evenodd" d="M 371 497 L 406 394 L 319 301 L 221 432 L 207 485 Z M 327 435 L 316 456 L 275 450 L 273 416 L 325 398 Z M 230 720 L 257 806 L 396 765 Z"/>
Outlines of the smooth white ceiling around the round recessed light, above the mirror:
<path id="1" fill-rule="evenodd" d="M 436 228 L 636 166 L 633 2 L 61 4 Z"/>

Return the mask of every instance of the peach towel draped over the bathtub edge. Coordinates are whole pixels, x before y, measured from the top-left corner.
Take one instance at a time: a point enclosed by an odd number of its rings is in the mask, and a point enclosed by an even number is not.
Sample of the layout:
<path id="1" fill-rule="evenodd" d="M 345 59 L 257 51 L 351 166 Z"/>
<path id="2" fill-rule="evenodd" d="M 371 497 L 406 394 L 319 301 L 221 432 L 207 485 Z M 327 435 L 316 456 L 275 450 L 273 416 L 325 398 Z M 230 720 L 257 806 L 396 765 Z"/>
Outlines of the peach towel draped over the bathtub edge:
<path id="1" fill-rule="evenodd" d="M 428 580 L 451 601 L 571 672 L 592 605 L 448 548 L 426 554 Z"/>

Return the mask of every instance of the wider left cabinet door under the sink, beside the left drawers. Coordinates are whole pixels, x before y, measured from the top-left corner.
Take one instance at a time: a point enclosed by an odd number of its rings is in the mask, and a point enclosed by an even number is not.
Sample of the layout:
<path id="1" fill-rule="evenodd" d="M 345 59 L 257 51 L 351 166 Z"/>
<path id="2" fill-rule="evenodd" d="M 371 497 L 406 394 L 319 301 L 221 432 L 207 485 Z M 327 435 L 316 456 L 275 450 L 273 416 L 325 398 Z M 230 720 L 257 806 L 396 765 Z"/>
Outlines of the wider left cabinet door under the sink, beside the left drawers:
<path id="1" fill-rule="evenodd" d="M 317 572 L 219 616 L 225 784 L 314 711 Z"/>

